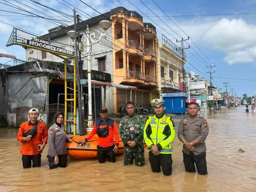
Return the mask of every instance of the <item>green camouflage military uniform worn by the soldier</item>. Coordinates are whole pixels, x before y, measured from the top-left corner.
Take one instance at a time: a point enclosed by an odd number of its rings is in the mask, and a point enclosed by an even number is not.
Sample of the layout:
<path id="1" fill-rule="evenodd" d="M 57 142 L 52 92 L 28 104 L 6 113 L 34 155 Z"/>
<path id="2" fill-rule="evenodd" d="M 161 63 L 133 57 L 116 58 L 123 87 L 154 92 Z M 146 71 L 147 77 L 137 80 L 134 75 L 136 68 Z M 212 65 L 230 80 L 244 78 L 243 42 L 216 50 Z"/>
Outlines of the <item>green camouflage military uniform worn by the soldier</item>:
<path id="1" fill-rule="evenodd" d="M 124 165 L 131 165 L 133 159 L 135 165 L 143 166 L 145 164 L 144 147 L 143 147 L 143 132 L 145 122 L 142 116 L 129 115 L 122 118 L 119 125 L 119 132 L 124 143 Z M 136 146 L 130 147 L 127 142 L 134 141 Z"/>

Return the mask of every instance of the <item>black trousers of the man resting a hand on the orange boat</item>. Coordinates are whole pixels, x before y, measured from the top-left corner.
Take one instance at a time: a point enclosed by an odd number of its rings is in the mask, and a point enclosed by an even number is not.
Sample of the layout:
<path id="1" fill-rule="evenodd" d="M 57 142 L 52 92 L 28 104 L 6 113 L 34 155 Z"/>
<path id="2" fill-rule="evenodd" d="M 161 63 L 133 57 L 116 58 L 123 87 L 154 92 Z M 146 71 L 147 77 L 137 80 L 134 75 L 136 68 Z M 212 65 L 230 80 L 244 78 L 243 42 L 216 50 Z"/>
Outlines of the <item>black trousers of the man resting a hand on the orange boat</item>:
<path id="1" fill-rule="evenodd" d="M 106 157 L 108 158 L 108 162 L 116 162 L 116 154 L 113 151 L 114 147 L 115 145 L 110 147 L 100 147 L 97 145 L 99 163 L 105 163 Z"/>

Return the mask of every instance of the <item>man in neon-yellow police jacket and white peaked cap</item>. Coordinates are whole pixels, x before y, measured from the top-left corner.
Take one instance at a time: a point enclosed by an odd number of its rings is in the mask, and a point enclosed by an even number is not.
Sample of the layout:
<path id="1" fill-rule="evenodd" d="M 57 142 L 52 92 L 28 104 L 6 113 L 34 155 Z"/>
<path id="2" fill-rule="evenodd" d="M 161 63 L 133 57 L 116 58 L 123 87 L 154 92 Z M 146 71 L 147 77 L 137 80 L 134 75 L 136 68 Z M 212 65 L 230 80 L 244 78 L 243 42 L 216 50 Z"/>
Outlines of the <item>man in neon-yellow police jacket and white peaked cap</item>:
<path id="1" fill-rule="evenodd" d="M 171 142 L 175 136 L 174 121 L 165 115 L 163 100 L 154 99 L 151 105 L 155 114 L 149 115 L 144 128 L 144 140 L 148 146 L 149 161 L 153 172 L 160 172 L 162 167 L 164 175 L 172 172 Z"/>

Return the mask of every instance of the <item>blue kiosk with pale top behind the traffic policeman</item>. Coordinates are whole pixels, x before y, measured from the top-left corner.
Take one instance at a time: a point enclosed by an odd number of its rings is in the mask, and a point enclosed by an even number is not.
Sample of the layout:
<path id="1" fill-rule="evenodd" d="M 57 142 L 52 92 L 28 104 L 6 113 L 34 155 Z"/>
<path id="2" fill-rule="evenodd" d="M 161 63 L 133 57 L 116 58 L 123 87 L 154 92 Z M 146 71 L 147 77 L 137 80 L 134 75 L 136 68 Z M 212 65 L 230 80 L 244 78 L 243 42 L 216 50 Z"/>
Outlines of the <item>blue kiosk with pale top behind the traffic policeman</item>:
<path id="1" fill-rule="evenodd" d="M 187 93 L 162 93 L 167 113 L 185 114 Z"/>

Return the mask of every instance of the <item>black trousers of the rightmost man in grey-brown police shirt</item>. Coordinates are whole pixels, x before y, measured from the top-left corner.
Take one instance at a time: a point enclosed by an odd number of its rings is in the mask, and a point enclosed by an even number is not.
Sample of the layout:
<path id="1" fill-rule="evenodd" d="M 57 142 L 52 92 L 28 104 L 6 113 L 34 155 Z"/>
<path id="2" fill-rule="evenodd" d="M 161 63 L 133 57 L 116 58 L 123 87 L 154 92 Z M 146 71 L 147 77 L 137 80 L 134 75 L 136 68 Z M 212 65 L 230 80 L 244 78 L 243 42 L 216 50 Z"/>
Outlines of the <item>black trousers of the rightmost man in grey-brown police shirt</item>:
<path id="1" fill-rule="evenodd" d="M 201 175 L 207 174 L 206 166 L 206 152 L 202 152 L 198 155 L 195 155 L 193 152 L 190 152 L 189 155 L 183 153 L 183 163 L 185 165 L 185 170 L 187 172 L 197 172 Z M 196 168 L 195 168 L 196 164 Z"/>

